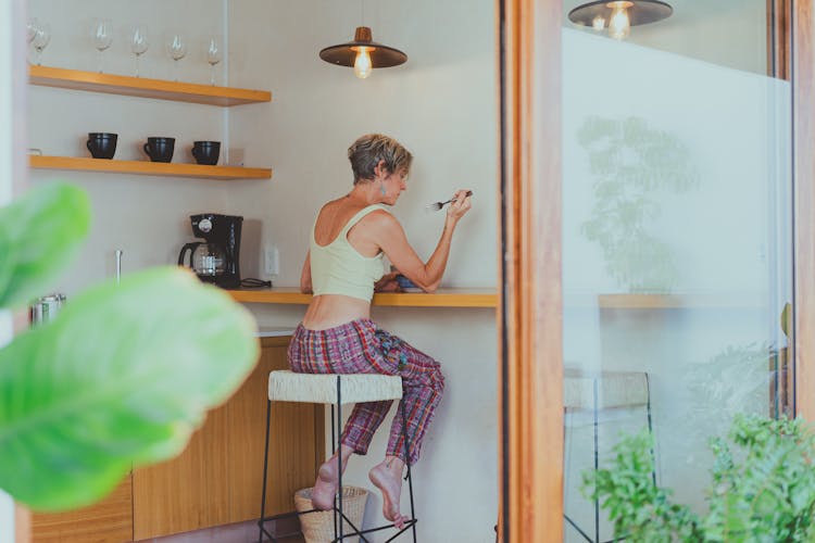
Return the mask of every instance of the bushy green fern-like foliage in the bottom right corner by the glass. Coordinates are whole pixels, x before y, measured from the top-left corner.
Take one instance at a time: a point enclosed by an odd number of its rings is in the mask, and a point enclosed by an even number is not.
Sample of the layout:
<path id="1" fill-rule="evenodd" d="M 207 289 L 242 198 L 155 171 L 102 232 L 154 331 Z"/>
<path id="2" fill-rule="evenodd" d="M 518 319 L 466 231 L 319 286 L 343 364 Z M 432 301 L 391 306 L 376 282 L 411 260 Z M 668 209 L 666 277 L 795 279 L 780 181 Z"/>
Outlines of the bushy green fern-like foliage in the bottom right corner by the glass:
<path id="1" fill-rule="evenodd" d="M 801 419 L 739 415 L 714 455 L 709 510 L 672 502 L 652 479 L 653 440 L 624 438 L 607 467 L 584 472 L 584 493 L 601 501 L 615 538 L 632 542 L 813 541 L 815 438 Z"/>

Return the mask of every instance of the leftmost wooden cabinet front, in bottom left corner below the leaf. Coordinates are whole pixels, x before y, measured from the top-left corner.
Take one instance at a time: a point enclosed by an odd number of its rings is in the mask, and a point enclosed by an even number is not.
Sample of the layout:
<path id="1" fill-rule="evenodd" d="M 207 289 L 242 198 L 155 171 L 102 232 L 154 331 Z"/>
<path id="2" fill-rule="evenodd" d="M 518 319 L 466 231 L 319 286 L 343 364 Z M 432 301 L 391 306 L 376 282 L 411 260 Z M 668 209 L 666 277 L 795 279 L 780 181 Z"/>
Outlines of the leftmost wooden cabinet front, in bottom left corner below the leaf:
<path id="1" fill-rule="evenodd" d="M 82 509 L 32 515 L 34 543 L 121 543 L 133 540 L 131 479 L 128 475 L 113 492 Z"/>

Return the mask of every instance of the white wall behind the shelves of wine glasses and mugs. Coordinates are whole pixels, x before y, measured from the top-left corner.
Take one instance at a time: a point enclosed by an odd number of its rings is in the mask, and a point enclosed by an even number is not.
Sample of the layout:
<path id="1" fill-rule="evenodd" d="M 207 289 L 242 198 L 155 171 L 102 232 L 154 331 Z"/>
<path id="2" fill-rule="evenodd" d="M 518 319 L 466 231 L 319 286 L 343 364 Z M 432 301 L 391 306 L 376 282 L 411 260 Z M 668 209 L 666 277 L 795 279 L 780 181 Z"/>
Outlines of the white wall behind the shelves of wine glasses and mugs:
<path id="1" fill-rule="evenodd" d="M 203 42 L 224 35 L 223 0 L 29 0 L 30 15 L 50 24 L 51 42 L 42 65 L 98 70 L 98 51 L 90 39 L 92 20 L 110 17 L 113 45 L 104 51 L 105 73 L 135 75 L 129 49 L 134 24 L 147 24 L 150 47 L 141 58 L 141 76 L 172 78 L 165 52 L 166 34 L 178 28 L 189 42 L 179 61 L 179 79 L 210 80 Z M 224 76 L 223 66 L 218 66 Z M 90 156 L 87 132 L 118 134 L 115 159 L 147 160 L 141 146 L 148 136 L 176 138 L 173 162 L 193 162 L 193 140 L 223 140 L 226 110 L 208 105 L 29 87 L 28 147 L 47 155 Z M 173 264 L 180 245 L 191 240 L 188 216 L 226 209 L 228 181 L 176 179 L 99 173 L 32 171 L 34 185 L 66 180 L 86 188 L 93 205 L 93 226 L 78 262 L 54 289 L 68 294 L 114 274 L 114 251 L 124 251 L 123 272 Z"/>

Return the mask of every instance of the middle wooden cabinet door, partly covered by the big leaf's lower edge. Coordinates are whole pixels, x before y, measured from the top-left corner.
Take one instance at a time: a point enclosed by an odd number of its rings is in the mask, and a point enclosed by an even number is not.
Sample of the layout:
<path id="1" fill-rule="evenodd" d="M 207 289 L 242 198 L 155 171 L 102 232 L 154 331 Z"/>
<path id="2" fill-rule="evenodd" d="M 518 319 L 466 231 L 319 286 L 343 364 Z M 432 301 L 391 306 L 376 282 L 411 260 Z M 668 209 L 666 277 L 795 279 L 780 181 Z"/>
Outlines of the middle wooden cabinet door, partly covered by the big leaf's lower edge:
<path id="1" fill-rule="evenodd" d="M 137 541 L 228 522 L 226 409 L 210 412 L 179 456 L 134 471 Z"/>

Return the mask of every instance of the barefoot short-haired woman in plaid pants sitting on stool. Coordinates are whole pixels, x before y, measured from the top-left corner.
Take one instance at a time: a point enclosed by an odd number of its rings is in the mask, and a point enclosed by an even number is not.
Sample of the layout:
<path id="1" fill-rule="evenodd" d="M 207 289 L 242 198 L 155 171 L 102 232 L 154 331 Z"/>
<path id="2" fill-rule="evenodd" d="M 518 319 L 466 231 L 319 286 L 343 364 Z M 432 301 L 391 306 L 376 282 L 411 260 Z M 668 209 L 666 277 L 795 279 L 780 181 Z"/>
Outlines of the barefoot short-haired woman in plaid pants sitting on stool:
<path id="1" fill-rule="evenodd" d="M 383 205 L 393 205 L 406 190 L 412 155 L 398 141 L 378 134 L 358 139 L 348 150 L 354 184 L 351 192 L 325 204 L 317 215 L 300 286 L 313 292 L 303 321 L 289 345 L 289 365 L 306 374 L 385 374 L 402 377 L 400 406 L 408 414 L 410 454 L 405 456 L 402 418 L 396 416 L 385 459 L 371 472 L 381 491 L 383 514 L 398 528 L 404 463 L 419 455 L 427 426 L 444 389 L 439 364 L 371 320 L 377 290 L 394 290 L 394 275 L 384 276 L 383 255 L 426 292 L 434 292 L 447 266 L 459 219 L 471 207 L 459 190 L 447 210 L 438 245 L 425 263 L 408 242 L 399 222 Z M 352 453 L 365 454 L 391 402 L 356 404 L 340 438 L 340 447 L 319 467 L 312 502 L 330 509 L 337 493 L 337 455 L 342 470 Z"/>

